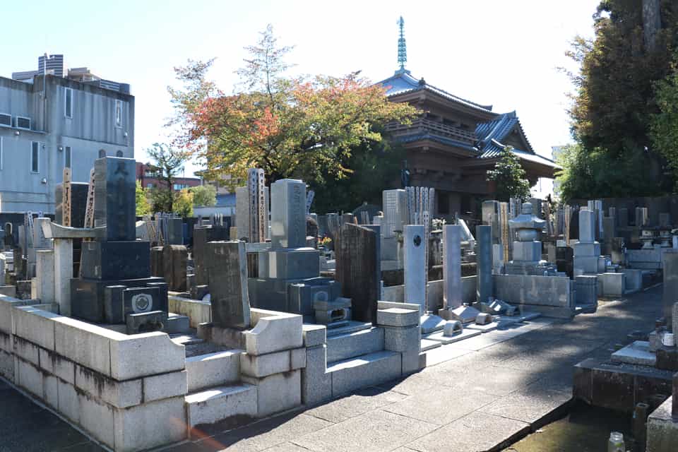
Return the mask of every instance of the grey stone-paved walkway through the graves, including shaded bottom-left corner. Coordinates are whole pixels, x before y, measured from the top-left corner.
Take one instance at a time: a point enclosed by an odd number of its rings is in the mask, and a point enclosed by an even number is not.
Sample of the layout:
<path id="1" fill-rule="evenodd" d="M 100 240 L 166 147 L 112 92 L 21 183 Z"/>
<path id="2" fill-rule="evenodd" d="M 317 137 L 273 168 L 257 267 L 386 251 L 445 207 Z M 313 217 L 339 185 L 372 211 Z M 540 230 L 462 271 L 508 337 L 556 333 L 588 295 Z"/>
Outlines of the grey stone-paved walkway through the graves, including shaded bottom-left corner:
<path id="1" fill-rule="evenodd" d="M 662 287 L 573 322 L 537 319 L 429 352 L 429 367 L 400 381 L 307 410 L 188 442 L 168 452 L 501 450 L 550 422 L 571 398 L 573 365 L 609 357 L 626 334 L 661 313 Z M 528 333 L 522 333 L 530 329 Z M 431 362 L 439 362 L 430 366 Z M 0 386 L 0 452 L 97 451 L 84 436 Z"/>

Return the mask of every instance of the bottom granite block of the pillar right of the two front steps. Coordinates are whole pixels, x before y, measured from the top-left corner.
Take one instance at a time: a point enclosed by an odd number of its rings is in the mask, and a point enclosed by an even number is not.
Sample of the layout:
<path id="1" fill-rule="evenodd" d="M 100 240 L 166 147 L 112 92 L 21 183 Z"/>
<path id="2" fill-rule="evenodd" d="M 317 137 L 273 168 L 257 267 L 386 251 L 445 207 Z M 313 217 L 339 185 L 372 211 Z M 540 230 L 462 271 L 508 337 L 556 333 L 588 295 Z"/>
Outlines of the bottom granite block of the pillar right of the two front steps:
<path id="1" fill-rule="evenodd" d="M 293 370 L 261 379 L 242 376 L 242 381 L 256 386 L 257 417 L 290 410 L 302 404 L 302 371 Z"/>

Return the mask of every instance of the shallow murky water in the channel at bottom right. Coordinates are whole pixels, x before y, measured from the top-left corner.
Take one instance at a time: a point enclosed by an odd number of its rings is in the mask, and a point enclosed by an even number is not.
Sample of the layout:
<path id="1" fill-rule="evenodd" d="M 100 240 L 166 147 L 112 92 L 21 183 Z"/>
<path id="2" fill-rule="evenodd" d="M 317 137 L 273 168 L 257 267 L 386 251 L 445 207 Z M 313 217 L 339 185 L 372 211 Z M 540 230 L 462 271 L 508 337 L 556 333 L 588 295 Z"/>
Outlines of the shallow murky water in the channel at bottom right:
<path id="1" fill-rule="evenodd" d="M 605 452 L 610 432 L 624 434 L 626 451 L 641 452 L 631 436 L 632 428 L 630 415 L 576 403 L 568 415 L 525 436 L 504 452 Z"/>

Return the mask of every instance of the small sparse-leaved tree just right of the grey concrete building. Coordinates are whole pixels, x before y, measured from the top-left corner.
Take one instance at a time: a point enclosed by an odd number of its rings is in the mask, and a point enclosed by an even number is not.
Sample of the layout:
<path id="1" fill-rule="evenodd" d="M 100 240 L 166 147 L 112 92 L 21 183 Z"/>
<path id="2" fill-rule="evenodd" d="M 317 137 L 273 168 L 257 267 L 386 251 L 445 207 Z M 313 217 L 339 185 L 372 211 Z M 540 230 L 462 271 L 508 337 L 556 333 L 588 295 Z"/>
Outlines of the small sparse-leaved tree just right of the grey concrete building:
<path id="1" fill-rule="evenodd" d="M 153 160 L 152 166 L 157 171 L 159 184 L 153 189 L 153 211 L 173 212 L 174 203 L 174 177 L 189 160 L 185 150 L 172 148 L 164 143 L 153 143 L 146 149 L 146 153 Z"/>

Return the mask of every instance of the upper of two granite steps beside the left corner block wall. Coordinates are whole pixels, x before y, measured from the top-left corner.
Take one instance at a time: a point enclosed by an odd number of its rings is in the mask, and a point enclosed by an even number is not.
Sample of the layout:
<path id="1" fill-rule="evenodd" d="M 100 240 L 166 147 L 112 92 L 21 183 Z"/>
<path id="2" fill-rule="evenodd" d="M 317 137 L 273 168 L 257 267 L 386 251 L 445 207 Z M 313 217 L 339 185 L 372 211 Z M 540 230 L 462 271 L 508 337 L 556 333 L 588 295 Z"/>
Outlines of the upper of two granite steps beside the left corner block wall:
<path id="1" fill-rule="evenodd" d="M 226 350 L 186 357 L 189 393 L 237 383 L 240 379 L 242 352 L 243 350 Z"/>

